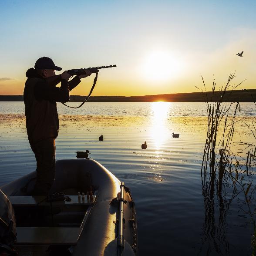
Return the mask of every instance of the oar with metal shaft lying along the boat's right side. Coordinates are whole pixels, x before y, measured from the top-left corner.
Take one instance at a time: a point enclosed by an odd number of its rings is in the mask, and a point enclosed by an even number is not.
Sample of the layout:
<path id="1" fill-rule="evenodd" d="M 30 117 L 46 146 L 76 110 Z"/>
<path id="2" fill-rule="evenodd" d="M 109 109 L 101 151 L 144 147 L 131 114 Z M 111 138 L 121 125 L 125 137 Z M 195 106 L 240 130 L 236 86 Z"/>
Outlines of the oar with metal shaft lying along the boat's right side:
<path id="1" fill-rule="evenodd" d="M 120 185 L 120 199 L 119 199 L 119 221 L 118 221 L 118 237 L 112 240 L 104 250 L 104 256 L 135 256 L 131 246 L 125 241 L 124 237 L 124 197 L 125 197 L 125 183 Z"/>

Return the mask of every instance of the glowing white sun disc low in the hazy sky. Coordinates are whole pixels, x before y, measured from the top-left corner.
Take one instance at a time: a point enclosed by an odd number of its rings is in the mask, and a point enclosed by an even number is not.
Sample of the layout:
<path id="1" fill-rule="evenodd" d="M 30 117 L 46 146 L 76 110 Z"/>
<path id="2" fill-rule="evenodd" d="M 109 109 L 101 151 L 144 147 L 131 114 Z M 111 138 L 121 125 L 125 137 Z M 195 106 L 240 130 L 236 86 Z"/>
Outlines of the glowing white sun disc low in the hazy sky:
<path id="1" fill-rule="evenodd" d="M 145 57 L 142 71 L 148 80 L 167 81 L 180 74 L 181 61 L 168 51 L 154 51 Z"/>

